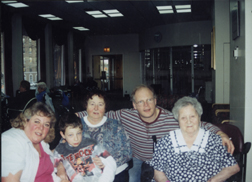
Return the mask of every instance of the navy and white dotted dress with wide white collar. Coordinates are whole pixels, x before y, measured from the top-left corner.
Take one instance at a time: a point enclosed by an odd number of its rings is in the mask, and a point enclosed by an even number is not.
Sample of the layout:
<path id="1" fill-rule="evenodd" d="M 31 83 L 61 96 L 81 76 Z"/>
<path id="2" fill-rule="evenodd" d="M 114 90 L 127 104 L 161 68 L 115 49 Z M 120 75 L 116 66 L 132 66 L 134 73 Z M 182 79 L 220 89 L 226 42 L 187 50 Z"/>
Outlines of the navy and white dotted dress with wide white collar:
<path id="1" fill-rule="evenodd" d="M 222 145 L 221 137 L 204 129 L 199 129 L 190 149 L 180 129 L 169 132 L 155 146 L 150 161 L 150 165 L 164 172 L 171 182 L 205 182 L 235 164 L 235 158 Z"/>

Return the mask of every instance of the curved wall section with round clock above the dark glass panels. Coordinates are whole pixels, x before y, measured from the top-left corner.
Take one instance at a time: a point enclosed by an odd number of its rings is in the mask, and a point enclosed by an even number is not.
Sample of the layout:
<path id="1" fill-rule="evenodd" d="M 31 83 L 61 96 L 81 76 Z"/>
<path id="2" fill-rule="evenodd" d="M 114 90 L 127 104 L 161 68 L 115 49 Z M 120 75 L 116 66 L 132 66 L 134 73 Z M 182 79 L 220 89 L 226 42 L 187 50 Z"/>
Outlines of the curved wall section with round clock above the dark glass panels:
<path id="1" fill-rule="evenodd" d="M 156 48 L 183 46 L 193 44 L 211 44 L 211 21 L 198 21 L 187 23 L 176 23 L 157 26 L 144 31 L 139 37 L 140 50 Z M 162 34 L 162 40 L 157 43 L 154 40 L 156 32 Z"/>

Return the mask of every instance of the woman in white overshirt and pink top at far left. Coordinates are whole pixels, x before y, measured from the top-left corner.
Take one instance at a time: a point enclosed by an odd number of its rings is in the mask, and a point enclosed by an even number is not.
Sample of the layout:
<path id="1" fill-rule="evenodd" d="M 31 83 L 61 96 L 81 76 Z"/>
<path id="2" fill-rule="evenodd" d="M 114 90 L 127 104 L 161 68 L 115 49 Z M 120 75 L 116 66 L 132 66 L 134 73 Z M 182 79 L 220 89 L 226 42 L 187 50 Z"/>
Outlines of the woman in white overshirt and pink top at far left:
<path id="1" fill-rule="evenodd" d="M 47 144 L 54 139 L 55 121 L 51 108 L 41 102 L 11 121 L 12 128 L 1 137 L 1 181 L 61 181 L 54 173 Z"/>

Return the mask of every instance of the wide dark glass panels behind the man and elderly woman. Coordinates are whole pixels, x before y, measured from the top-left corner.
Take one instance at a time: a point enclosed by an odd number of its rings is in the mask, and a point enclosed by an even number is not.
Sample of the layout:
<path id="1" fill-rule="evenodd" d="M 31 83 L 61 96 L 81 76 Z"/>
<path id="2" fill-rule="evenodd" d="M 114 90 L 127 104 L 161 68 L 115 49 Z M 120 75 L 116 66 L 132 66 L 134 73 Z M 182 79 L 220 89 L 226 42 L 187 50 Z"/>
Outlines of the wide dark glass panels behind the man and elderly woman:
<path id="1" fill-rule="evenodd" d="M 143 83 L 164 93 L 189 95 L 212 80 L 211 45 L 176 46 L 141 52 Z"/>

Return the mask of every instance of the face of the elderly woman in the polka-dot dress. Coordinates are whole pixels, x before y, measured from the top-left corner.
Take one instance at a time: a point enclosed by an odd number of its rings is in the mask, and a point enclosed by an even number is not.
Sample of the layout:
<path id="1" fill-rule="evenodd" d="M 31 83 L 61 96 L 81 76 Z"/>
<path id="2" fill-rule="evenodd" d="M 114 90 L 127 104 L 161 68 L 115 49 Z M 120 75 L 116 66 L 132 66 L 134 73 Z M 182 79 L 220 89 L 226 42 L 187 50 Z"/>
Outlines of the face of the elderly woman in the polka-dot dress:
<path id="1" fill-rule="evenodd" d="M 197 134 L 200 117 L 192 105 L 184 106 L 179 110 L 179 126 L 184 134 Z"/>

